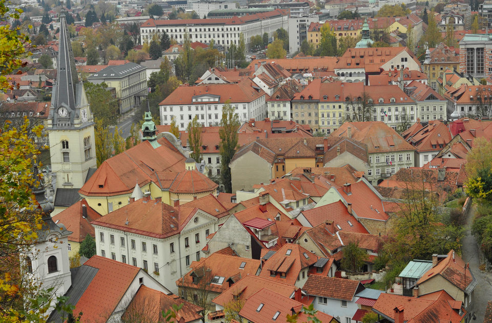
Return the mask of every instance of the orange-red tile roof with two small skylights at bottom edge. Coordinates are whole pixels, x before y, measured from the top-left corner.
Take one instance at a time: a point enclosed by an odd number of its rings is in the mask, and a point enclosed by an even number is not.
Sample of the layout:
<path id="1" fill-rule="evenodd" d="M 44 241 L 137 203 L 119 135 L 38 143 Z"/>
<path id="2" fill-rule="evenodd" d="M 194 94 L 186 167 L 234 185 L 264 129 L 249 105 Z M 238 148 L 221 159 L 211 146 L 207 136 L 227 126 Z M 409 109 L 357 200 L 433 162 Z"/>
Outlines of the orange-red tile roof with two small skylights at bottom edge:
<path id="1" fill-rule="evenodd" d="M 261 307 L 260 307 L 260 304 Z M 275 317 L 275 322 L 287 323 L 287 315 L 292 315 L 293 311 L 299 313 L 303 304 L 295 299 L 277 294 L 269 289 L 261 289 L 252 295 L 244 303 L 239 315 L 253 323 L 270 322 Z M 316 317 L 324 323 L 332 323 L 333 316 L 321 311 L 316 313 Z M 298 321 L 308 320 L 308 315 L 299 313 Z"/>

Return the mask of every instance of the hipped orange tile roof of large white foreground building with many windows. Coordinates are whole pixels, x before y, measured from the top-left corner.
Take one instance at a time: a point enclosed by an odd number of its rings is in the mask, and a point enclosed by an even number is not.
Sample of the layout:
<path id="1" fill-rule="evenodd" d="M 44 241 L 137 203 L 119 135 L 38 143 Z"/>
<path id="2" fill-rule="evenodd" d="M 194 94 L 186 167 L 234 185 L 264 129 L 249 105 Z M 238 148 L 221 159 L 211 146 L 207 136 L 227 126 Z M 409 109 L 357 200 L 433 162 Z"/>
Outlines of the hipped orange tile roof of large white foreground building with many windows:
<path id="1" fill-rule="evenodd" d="M 139 199 L 92 221 L 92 225 L 167 238 L 179 234 L 197 211 L 197 208 L 173 208 L 162 202 Z"/>

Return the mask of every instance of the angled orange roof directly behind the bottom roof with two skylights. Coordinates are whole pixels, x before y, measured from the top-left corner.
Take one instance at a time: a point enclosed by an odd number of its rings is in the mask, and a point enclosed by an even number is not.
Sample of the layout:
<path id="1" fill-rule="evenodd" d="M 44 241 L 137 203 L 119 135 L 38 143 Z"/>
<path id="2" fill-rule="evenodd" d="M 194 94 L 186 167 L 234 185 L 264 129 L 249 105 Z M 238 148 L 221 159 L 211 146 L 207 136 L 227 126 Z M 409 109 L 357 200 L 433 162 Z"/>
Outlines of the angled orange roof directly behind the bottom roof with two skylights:
<path id="1" fill-rule="evenodd" d="M 248 300 L 259 290 L 266 288 L 285 297 L 291 297 L 297 287 L 284 284 L 279 281 L 272 281 L 255 275 L 246 275 L 237 281 L 233 286 L 226 289 L 222 294 L 215 297 L 212 302 L 220 306 L 226 305 L 234 297 L 242 301 Z"/>

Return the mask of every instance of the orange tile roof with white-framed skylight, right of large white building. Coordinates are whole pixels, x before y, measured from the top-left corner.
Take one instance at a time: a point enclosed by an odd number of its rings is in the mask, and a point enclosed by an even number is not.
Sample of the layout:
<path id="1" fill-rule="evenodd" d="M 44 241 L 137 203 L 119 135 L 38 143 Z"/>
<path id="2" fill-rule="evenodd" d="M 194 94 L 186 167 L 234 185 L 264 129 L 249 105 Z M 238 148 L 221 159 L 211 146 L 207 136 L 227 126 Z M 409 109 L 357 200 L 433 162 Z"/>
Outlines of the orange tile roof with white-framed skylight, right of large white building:
<path id="1" fill-rule="evenodd" d="M 244 263 L 243 268 L 241 268 L 242 263 Z M 189 273 L 176 281 L 178 287 L 197 286 L 193 283 L 193 275 L 195 275 L 200 279 L 206 279 L 206 282 L 209 281 L 207 285 L 209 291 L 222 293 L 242 277 L 248 274 L 256 275 L 260 268 L 260 260 L 213 253 L 207 258 L 201 258 L 200 261 L 193 261 L 190 268 Z M 203 270 L 206 273 L 203 274 Z M 215 281 L 216 276 L 222 279 Z"/>

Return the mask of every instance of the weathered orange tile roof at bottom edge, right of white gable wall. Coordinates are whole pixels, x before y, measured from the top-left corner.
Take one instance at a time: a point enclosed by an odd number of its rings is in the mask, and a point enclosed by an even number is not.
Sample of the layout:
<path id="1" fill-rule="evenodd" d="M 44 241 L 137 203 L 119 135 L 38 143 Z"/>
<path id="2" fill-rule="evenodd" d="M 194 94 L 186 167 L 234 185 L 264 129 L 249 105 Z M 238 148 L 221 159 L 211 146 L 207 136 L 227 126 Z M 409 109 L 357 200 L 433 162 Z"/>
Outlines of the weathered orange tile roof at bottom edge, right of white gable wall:
<path id="1" fill-rule="evenodd" d="M 121 318 L 126 321 L 133 321 L 142 319 L 140 315 L 145 315 L 146 320 L 157 323 L 162 321 L 162 312 L 171 309 L 173 305 L 181 304 L 181 309 L 176 312 L 176 319 L 180 322 L 192 322 L 203 317 L 199 313 L 203 311 L 203 308 L 183 300 L 177 295 L 166 295 L 145 285 L 140 285 Z"/>

